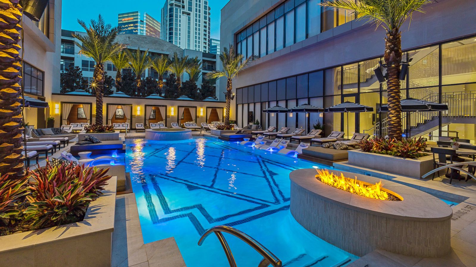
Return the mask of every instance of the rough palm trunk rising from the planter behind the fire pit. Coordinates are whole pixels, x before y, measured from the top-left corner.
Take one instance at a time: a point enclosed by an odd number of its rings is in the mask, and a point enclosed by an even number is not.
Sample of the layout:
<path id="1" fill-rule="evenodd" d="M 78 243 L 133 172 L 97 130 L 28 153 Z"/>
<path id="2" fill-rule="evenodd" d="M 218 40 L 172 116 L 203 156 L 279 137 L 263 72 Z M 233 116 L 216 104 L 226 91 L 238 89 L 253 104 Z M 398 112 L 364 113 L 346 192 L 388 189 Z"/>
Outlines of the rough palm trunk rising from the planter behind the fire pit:
<path id="1" fill-rule="evenodd" d="M 402 107 L 400 105 L 400 61 L 402 60 L 401 34 L 398 29 L 387 32 L 385 38 L 387 64 L 388 137 L 402 139 Z"/>

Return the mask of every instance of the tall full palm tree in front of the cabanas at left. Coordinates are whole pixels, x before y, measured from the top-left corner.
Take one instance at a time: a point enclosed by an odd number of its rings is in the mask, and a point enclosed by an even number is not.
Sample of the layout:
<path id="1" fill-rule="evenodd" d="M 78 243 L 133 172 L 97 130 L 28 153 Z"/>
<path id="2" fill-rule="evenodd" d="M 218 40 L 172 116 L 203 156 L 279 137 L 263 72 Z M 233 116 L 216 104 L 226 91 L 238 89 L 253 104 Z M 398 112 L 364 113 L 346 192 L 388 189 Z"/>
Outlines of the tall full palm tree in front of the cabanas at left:
<path id="1" fill-rule="evenodd" d="M 89 27 L 78 19 L 79 25 L 86 30 L 86 34 L 72 34 L 79 47 L 79 53 L 91 57 L 96 62 L 93 72 L 92 88 L 96 94 L 96 124 L 102 125 L 104 63 L 126 48 L 126 44 L 114 40 L 119 33 L 118 27 L 106 24 L 101 15 L 98 21 L 91 19 Z"/>

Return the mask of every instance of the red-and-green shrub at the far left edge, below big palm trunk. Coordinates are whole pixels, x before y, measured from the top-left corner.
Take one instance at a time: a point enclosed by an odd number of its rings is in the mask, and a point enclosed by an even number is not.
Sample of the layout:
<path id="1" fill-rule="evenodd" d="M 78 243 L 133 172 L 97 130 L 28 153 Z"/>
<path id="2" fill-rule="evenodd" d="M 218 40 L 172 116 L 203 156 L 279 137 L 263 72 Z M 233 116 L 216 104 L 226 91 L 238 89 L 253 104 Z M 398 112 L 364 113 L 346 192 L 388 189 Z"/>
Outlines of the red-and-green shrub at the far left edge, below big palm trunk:
<path id="1" fill-rule="evenodd" d="M 26 183 L 28 177 L 10 180 L 8 174 L 0 176 L 0 224 L 15 223 L 15 216 L 20 214 L 20 204 L 28 194 Z"/>

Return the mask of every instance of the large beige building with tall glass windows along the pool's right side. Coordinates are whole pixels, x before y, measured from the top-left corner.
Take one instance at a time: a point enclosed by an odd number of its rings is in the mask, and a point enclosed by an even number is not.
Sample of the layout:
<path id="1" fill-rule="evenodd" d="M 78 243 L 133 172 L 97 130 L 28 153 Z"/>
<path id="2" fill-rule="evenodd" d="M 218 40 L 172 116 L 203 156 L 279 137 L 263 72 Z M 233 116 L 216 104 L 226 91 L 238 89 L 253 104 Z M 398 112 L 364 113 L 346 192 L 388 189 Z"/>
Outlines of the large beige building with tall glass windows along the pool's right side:
<path id="1" fill-rule="evenodd" d="M 270 4 L 271 2 L 271 4 Z M 382 59 L 385 30 L 357 20 L 350 10 L 321 8 L 320 0 L 231 0 L 221 10 L 222 43 L 234 44 L 245 56 L 260 58 L 234 80 L 238 125 L 305 127 L 317 122 L 330 131 L 385 136 L 386 84 L 373 70 Z M 476 122 L 475 1 L 443 0 L 417 12 L 411 26 L 401 27 L 403 61 L 410 58 L 402 80 L 402 98 L 445 103 L 447 112 L 404 113 L 411 136 L 458 136 L 474 141 Z M 225 81 L 220 81 L 224 86 Z M 367 113 L 264 114 L 281 105 L 321 107 L 351 101 L 374 107 Z M 348 122 L 348 123 L 347 123 Z M 347 131 L 347 125 L 349 130 Z M 309 127 L 309 126 L 308 126 Z"/>

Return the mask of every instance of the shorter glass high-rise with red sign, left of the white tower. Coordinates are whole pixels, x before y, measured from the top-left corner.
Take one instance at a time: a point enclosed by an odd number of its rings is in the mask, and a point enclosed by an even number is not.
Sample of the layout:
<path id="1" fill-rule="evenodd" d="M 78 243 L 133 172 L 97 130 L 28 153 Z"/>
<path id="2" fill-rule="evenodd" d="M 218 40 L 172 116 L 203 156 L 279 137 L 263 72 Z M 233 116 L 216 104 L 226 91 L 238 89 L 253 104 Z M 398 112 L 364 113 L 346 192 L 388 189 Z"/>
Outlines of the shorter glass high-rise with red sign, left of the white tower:
<path id="1" fill-rule="evenodd" d="M 160 22 L 146 12 L 140 11 L 118 14 L 119 34 L 137 34 L 160 38 Z"/>

